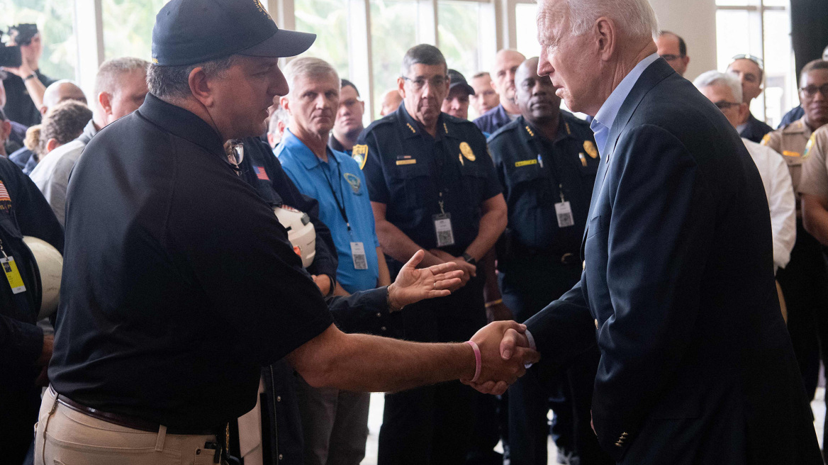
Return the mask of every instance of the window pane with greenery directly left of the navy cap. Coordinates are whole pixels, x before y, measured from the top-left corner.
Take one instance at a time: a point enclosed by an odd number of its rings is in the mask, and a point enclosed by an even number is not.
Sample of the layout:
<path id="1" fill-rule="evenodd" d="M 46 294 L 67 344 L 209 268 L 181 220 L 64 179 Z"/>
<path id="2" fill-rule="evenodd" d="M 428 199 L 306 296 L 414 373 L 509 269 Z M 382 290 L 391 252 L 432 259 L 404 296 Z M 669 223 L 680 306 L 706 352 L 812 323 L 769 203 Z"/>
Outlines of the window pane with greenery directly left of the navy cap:
<path id="1" fill-rule="evenodd" d="M 103 57 L 152 58 L 152 27 L 166 0 L 102 0 Z"/>

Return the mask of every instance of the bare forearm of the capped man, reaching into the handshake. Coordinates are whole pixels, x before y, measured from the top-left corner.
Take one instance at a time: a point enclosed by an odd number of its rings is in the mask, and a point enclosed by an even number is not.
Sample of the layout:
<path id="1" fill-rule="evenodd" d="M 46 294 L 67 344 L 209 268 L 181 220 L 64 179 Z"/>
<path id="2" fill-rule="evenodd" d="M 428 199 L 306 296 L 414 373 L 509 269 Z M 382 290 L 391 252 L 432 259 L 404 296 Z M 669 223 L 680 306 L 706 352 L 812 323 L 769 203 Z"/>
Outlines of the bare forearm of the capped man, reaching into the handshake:
<path id="1" fill-rule="evenodd" d="M 474 376 L 474 351 L 465 343 L 411 343 L 331 326 L 289 356 L 311 386 L 348 391 L 402 391 Z"/>

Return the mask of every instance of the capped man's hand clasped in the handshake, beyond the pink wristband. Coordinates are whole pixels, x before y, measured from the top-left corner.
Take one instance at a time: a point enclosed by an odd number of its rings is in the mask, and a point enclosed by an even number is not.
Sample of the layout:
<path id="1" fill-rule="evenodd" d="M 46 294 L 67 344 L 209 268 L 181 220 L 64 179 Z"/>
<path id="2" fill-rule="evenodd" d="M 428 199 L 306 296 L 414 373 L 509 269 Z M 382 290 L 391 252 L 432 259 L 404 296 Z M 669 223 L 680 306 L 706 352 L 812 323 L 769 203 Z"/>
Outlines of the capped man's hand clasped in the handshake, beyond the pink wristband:
<path id="1" fill-rule="evenodd" d="M 526 326 L 514 321 L 496 321 L 481 328 L 471 340 L 480 348 L 480 377 L 474 383 L 460 380 L 484 394 L 501 395 L 526 373 L 526 364 L 541 359 L 529 347 Z"/>

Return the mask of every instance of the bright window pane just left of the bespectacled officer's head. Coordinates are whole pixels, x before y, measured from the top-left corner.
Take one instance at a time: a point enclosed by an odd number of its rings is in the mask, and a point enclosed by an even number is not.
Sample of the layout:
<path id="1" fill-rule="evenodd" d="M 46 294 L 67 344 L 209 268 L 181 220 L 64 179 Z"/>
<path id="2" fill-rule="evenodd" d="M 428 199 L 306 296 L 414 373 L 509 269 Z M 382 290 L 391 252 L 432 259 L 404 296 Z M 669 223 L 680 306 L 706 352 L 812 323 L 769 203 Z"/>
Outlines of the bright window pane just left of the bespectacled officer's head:
<path id="1" fill-rule="evenodd" d="M 416 46 L 416 17 L 416 2 L 371 0 L 374 102 L 381 102 L 383 93 L 397 88 L 402 56 Z"/>

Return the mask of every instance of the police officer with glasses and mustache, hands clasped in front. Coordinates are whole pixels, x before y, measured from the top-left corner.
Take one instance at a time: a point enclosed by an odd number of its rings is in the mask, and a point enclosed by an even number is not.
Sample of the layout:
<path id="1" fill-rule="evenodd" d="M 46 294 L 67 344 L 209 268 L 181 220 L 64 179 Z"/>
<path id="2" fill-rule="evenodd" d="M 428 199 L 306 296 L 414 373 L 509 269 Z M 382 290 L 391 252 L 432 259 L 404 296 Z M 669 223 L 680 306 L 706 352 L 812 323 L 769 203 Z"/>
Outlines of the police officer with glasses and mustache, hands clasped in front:
<path id="1" fill-rule="evenodd" d="M 460 341 L 485 324 L 484 276 L 476 262 L 506 225 L 483 134 L 440 113 L 447 70 L 436 47 L 408 50 L 397 79 L 403 103 L 354 146 L 354 156 L 367 156 L 363 171 L 391 275 L 419 248 L 429 251 L 426 265 L 454 261 L 467 273 L 454 295 L 402 312 L 405 338 L 416 341 Z M 460 383 L 386 395 L 378 463 L 463 463 L 471 400 L 472 391 Z"/>

